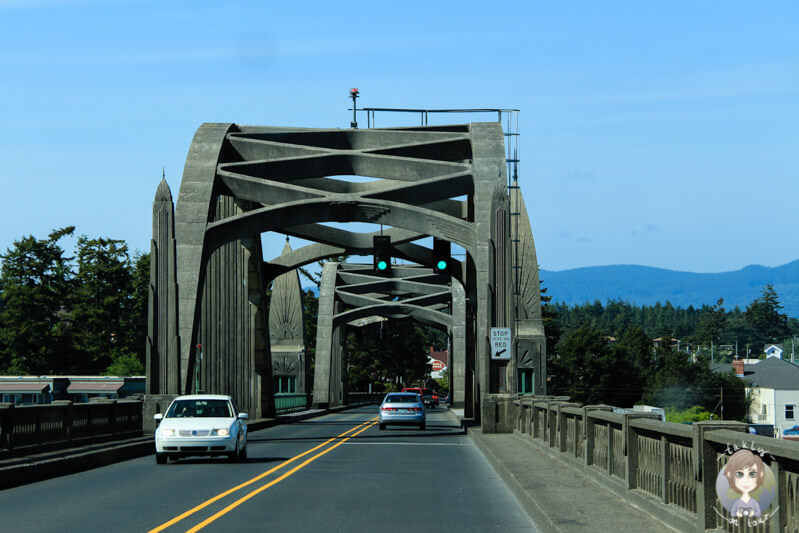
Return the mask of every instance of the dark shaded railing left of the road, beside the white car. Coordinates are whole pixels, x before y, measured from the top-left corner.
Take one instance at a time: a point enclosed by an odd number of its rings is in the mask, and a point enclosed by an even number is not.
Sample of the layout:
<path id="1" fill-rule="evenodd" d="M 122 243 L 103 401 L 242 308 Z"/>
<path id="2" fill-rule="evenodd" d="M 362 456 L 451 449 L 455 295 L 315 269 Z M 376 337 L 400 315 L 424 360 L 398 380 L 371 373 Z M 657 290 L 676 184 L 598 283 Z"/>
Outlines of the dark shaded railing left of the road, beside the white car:
<path id="1" fill-rule="evenodd" d="M 141 436 L 142 402 L 0 404 L 0 456 Z"/>

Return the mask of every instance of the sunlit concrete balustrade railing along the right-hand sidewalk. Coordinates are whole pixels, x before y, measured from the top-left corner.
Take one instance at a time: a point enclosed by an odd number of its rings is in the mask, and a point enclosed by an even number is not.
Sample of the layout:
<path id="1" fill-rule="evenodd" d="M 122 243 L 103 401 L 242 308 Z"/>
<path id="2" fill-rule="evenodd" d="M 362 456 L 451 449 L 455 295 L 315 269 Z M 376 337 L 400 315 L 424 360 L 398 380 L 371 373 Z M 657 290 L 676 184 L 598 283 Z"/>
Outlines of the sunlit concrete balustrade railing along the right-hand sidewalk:
<path id="1" fill-rule="evenodd" d="M 799 443 L 750 435 L 741 422 L 673 424 L 563 397 L 509 403 L 515 433 L 677 530 L 799 531 Z M 761 523 L 731 524 L 716 495 L 719 471 L 738 448 L 762 452 L 774 473 L 775 500 L 763 515 L 774 514 Z"/>

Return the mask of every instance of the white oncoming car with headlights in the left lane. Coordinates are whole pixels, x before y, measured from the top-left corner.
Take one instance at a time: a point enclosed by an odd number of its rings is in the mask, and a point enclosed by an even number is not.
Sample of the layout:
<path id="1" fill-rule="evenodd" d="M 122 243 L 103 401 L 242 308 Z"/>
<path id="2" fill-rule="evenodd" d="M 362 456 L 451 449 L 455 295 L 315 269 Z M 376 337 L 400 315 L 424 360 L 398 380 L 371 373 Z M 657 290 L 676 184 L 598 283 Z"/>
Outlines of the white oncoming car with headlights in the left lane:
<path id="1" fill-rule="evenodd" d="M 189 455 L 225 455 L 231 461 L 247 458 L 247 413 L 239 413 L 233 398 L 194 394 L 175 398 L 155 430 L 155 462 Z"/>

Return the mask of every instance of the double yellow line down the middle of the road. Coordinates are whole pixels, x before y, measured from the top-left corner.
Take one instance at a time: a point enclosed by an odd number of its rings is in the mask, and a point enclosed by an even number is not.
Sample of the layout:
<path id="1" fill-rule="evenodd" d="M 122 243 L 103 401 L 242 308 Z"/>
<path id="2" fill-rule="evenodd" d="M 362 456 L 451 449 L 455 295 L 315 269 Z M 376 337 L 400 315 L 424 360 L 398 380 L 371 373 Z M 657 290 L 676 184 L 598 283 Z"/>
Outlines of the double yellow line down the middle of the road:
<path id="1" fill-rule="evenodd" d="M 334 444 L 333 446 L 330 446 L 329 448 L 317 453 L 313 457 L 311 457 L 309 459 L 306 459 L 305 461 L 303 461 L 299 465 L 295 466 L 294 468 L 292 468 L 291 470 L 289 470 L 285 474 L 282 474 L 280 477 L 277 477 L 277 478 L 273 479 L 272 481 L 270 481 L 269 483 L 266 483 L 265 485 L 262 485 L 262 486 L 258 487 L 257 489 L 249 492 L 245 496 L 242 496 L 238 500 L 234 501 L 233 503 L 231 503 L 230 505 L 228 505 L 227 507 L 225 507 L 221 511 L 209 516 L 208 518 L 206 518 L 205 520 L 203 520 L 202 522 L 200 522 L 199 524 L 197 524 L 193 528 L 189 529 L 187 531 L 187 533 L 194 533 L 195 531 L 199 531 L 202 528 L 204 528 L 205 526 L 207 526 L 208 524 L 210 524 L 211 522 L 213 522 L 214 520 L 216 520 L 219 517 L 229 513 L 230 511 L 232 511 L 233 509 L 235 509 L 236 507 L 238 507 L 242 503 L 246 502 L 250 498 L 253 498 L 254 496 L 260 494 L 261 492 L 265 491 L 266 489 L 268 489 L 272 485 L 280 483 L 281 481 L 283 481 L 284 479 L 286 479 L 290 475 L 294 474 L 298 470 L 301 470 L 301 469 L 305 468 L 306 466 L 308 466 L 313 461 L 316 461 L 317 459 L 322 457 L 324 454 L 335 450 L 336 448 L 341 446 L 343 443 L 347 442 L 352 437 L 358 435 L 359 433 L 362 433 L 362 432 L 366 431 L 370 427 L 374 426 L 376 423 L 377 423 L 377 418 L 373 418 L 371 420 L 368 420 L 367 422 L 364 422 L 362 424 L 359 424 L 359 425 L 355 426 L 354 428 L 348 429 L 347 431 L 345 431 L 341 435 L 338 435 L 336 437 L 330 438 L 330 439 L 326 440 L 325 442 L 323 442 L 322 444 L 319 444 L 318 446 L 314 446 L 313 448 L 311 448 L 310 450 L 308 450 L 306 452 L 303 452 L 303 453 L 301 453 L 299 455 L 295 455 L 291 459 L 287 459 L 286 461 L 283 461 L 282 463 L 280 463 L 276 467 L 274 467 L 274 468 L 272 468 L 270 470 L 267 470 L 263 474 L 259 474 L 259 475 L 255 476 L 254 478 L 252 478 L 252 479 L 250 479 L 248 481 L 245 481 L 244 483 L 242 483 L 240 485 L 236 485 L 232 489 L 226 490 L 225 492 L 223 492 L 221 494 L 217 494 L 213 498 L 210 498 L 210 499 L 204 501 L 200 505 L 198 505 L 198 506 L 196 506 L 196 507 L 194 507 L 192 509 L 189 509 L 188 511 L 186 511 L 183 514 L 180 514 L 180 515 L 176 516 L 175 518 L 173 518 L 169 522 L 164 522 L 163 524 L 161 524 L 160 526 L 156 527 L 155 529 L 151 529 L 148 533 L 158 533 L 159 531 L 163 531 L 163 530 L 165 530 L 168 527 L 172 527 L 173 525 L 177 524 L 178 522 L 180 522 L 184 518 L 187 518 L 187 517 L 193 515 L 194 513 L 198 512 L 198 511 L 200 511 L 202 509 L 205 509 L 206 507 L 208 507 L 212 503 L 214 503 L 216 501 L 219 501 L 222 498 L 224 498 L 226 496 L 229 496 L 229 495 L 233 494 L 234 492 L 236 492 L 238 490 L 243 489 L 244 487 L 252 485 L 256 481 L 259 481 L 259 480 L 265 478 L 266 476 L 277 472 L 281 468 L 293 463 L 294 461 L 297 461 L 298 459 L 302 459 L 306 455 L 315 452 L 319 448 L 327 446 L 331 442 L 333 442 L 335 440 L 338 440 L 338 442 L 336 444 Z M 356 430 L 358 430 L 358 431 L 356 431 Z M 353 433 L 353 432 L 355 432 L 355 433 Z M 347 436 L 348 434 L 349 434 L 349 436 Z"/>

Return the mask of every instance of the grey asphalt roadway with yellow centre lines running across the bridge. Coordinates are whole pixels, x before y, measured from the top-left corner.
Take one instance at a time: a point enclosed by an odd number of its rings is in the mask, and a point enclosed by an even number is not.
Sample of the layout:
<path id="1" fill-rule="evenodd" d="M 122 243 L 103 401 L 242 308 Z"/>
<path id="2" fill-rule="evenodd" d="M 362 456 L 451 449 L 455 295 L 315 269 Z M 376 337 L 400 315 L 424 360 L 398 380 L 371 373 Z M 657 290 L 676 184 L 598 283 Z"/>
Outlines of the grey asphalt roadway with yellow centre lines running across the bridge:
<path id="1" fill-rule="evenodd" d="M 0 491 L 0 532 L 535 531 L 446 410 L 425 431 L 376 417 L 252 432 L 246 463 L 148 456 Z"/>

